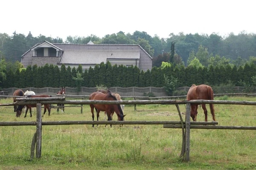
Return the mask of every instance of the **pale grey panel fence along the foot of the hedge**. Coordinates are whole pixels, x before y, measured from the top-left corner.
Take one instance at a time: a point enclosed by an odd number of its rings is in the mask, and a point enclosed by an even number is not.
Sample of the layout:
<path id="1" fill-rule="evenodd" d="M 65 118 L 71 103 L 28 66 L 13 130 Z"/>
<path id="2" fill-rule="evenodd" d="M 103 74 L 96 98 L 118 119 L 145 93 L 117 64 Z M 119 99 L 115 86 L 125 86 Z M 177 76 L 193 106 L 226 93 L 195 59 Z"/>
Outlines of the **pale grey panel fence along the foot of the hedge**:
<path id="1" fill-rule="evenodd" d="M 190 87 L 179 87 L 176 88 L 176 91 L 189 91 Z M 61 91 L 61 88 L 3 88 L 0 95 L 12 95 L 15 90 L 22 89 L 25 91 L 34 91 L 35 94 L 47 94 L 47 95 L 56 95 L 58 91 Z M 97 91 L 97 88 L 87 88 L 81 87 L 81 90 L 78 92 L 77 88 L 66 87 L 66 94 L 68 95 L 90 95 L 91 93 Z M 118 93 L 120 96 L 148 96 L 148 93 L 153 93 L 156 97 L 167 96 L 166 88 L 156 88 L 156 87 L 111 87 L 108 88 L 113 93 Z M 256 87 L 212 87 L 214 94 L 220 93 L 256 93 Z"/>

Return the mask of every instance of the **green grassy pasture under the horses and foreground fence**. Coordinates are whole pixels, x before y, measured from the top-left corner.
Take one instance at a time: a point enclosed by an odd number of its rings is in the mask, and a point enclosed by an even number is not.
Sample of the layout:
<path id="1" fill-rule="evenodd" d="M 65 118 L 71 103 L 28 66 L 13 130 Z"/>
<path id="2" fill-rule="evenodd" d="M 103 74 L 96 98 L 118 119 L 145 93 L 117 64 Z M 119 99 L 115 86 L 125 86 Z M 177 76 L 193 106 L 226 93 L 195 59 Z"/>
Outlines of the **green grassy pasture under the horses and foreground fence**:
<path id="1" fill-rule="evenodd" d="M 256 101 L 255 97 L 216 97 L 216 100 Z M 11 103 L 1 99 L 0 103 Z M 36 109 L 35 109 L 36 110 Z M 185 119 L 185 106 L 180 105 Z M 209 113 L 209 105 L 207 105 Z M 125 121 L 179 121 L 175 105 L 125 105 Z M 35 121 L 35 112 L 15 117 L 13 106 L 0 107 L 0 122 Z M 219 125 L 256 126 L 255 106 L 215 105 Z M 100 113 L 100 120 L 104 113 Z M 116 114 L 113 120 L 116 120 Z M 52 109 L 43 121 L 92 120 L 89 105 Z M 198 109 L 198 121 L 204 113 Z M 212 121 L 208 114 L 208 121 Z M 163 125 L 43 126 L 42 157 L 30 159 L 35 126 L 0 127 L 0 170 L 251 170 L 256 169 L 256 130 L 191 130 L 190 162 L 180 161 L 181 129 Z"/>

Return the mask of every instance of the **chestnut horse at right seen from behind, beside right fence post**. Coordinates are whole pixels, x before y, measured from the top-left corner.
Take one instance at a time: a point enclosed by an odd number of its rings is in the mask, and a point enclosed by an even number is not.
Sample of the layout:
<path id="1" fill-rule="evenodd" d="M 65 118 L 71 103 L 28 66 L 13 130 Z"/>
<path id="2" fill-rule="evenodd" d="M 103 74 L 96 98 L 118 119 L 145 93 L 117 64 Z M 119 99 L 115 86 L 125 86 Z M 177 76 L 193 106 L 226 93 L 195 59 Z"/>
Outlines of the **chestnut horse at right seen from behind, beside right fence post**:
<path id="1" fill-rule="evenodd" d="M 202 99 L 202 100 L 213 100 L 213 91 L 211 86 L 209 85 L 192 85 L 189 88 L 188 94 L 186 99 L 189 100 L 196 100 L 196 99 Z M 207 122 L 207 109 L 205 104 L 201 104 L 202 108 L 204 109 L 204 116 L 205 116 L 205 122 Z M 210 110 L 212 113 L 212 119 L 215 121 L 215 113 L 214 113 L 214 107 L 213 104 L 210 105 Z M 197 114 L 198 114 L 198 104 L 191 104 L 191 111 L 190 116 L 192 117 L 193 121 L 196 121 Z"/>

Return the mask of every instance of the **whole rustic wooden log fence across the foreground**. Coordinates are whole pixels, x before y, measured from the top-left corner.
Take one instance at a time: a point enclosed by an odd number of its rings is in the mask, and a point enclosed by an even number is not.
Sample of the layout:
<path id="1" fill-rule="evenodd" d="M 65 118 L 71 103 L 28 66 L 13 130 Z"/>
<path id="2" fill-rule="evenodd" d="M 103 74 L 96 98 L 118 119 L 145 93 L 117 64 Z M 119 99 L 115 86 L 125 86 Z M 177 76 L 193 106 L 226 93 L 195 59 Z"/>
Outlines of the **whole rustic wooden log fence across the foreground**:
<path id="1" fill-rule="evenodd" d="M 43 125 L 163 125 L 164 128 L 182 128 L 182 149 L 180 157 L 185 161 L 189 161 L 190 153 L 190 129 L 244 129 L 256 130 L 256 126 L 241 127 L 241 126 L 209 126 L 218 125 L 218 122 L 190 122 L 190 105 L 197 104 L 230 104 L 230 105 L 256 105 L 256 102 L 247 101 L 221 101 L 221 100 L 190 100 L 190 101 L 176 101 L 176 100 L 122 100 L 122 101 L 104 101 L 104 100 L 64 100 L 65 97 L 49 97 L 49 98 L 17 98 L 18 102 L 6 105 L 37 105 L 37 119 L 36 122 L 0 122 L 0 126 L 20 126 L 20 125 L 36 125 L 36 133 L 32 139 L 31 144 L 31 159 L 34 157 L 36 146 L 36 158 L 41 157 L 41 140 L 42 140 L 42 126 Z M 38 103 L 40 102 L 40 103 Z M 172 104 L 176 105 L 180 121 L 52 121 L 42 122 L 41 104 L 126 104 L 126 105 L 147 105 L 147 104 Z M 179 104 L 186 104 L 186 121 L 183 122 Z M 207 126 L 205 126 L 207 125 Z M 36 145 L 35 145 L 36 144 Z"/>

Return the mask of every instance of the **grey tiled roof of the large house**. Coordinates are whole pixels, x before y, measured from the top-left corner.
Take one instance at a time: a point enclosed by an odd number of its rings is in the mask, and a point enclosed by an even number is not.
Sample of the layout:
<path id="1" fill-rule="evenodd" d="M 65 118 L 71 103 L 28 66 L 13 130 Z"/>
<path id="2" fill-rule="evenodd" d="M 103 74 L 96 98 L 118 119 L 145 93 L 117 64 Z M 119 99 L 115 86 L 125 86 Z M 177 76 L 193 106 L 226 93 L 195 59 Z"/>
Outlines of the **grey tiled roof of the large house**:
<path id="1" fill-rule="evenodd" d="M 49 43 L 49 42 L 47 42 Z M 39 45 L 41 43 L 38 43 Z M 51 43 L 49 43 L 51 44 Z M 33 47 L 37 46 L 34 45 Z M 107 59 L 140 59 L 140 69 L 152 68 L 152 57 L 140 45 L 119 44 L 58 44 L 52 45 L 63 50 L 58 64 L 100 64 Z M 31 65 L 33 51 L 23 54 L 21 62 L 24 67 Z M 57 63 L 56 63 L 57 64 Z"/>

